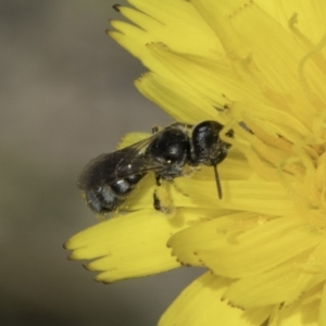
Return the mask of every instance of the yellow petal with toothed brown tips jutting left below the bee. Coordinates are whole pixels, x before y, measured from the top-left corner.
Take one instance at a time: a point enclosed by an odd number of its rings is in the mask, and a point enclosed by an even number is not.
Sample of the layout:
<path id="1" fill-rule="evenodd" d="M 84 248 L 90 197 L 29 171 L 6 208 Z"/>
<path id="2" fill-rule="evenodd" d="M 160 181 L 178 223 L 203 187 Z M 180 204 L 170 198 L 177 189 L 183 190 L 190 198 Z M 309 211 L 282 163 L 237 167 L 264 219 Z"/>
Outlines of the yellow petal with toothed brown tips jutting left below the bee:
<path id="1" fill-rule="evenodd" d="M 153 210 L 138 211 L 101 222 L 73 236 L 65 248 L 72 260 L 93 260 L 96 279 L 111 283 L 146 276 L 179 266 L 166 239 L 175 231 L 172 221 Z"/>

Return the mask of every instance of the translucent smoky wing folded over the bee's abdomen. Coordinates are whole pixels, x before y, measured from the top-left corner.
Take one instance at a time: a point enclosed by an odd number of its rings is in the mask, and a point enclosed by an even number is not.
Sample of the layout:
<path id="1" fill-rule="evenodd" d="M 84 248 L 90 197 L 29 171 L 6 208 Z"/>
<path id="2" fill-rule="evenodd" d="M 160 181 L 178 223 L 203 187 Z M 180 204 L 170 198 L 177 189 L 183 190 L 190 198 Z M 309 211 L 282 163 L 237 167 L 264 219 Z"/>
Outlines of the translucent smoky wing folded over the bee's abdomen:
<path id="1" fill-rule="evenodd" d="M 82 172 L 77 181 L 78 187 L 85 189 L 95 185 L 112 184 L 131 175 L 164 168 L 165 165 L 162 162 L 146 154 L 147 147 L 155 136 L 156 134 L 115 152 L 93 159 Z"/>

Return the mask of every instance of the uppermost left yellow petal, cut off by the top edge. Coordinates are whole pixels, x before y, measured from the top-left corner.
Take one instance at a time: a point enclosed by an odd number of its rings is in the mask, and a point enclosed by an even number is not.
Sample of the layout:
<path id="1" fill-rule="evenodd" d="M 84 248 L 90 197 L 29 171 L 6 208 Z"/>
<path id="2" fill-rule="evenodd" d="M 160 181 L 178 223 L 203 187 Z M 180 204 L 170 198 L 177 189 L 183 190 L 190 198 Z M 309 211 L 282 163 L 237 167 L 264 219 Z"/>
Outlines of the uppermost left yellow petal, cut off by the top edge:
<path id="1" fill-rule="evenodd" d="M 160 41 L 176 51 L 208 58 L 216 58 L 216 52 L 222 50 L 213 30 L 189 2 L 181 0 L 129 2 L 141 13 L 124 7 L 121 8 L 121 12 L 149 32 L 145 43 Z M 149 18 L 155 22 L 154 28 L 146 24 Z"/>

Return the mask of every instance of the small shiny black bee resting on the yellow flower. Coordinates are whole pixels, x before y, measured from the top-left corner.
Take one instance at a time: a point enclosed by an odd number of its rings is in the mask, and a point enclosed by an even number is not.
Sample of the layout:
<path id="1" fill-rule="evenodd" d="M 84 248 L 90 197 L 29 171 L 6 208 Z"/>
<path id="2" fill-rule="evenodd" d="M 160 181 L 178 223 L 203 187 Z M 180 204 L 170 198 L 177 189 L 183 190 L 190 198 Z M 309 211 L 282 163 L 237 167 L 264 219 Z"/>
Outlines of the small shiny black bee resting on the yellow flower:
<path id="1" fill-rule="evenodd" d="M 160 131 L 153 129 L 151 137 L 90 161 L 79 176 L 78 187 L 90 209 L 103 214 L 116 211 L 148 172 L 154 172 L 160 186 L 161 180 L 183 176 L 186 165 L 203 164 L 214 167 L 221 199 L 217 164 L 230 148 L 220 138 L 223 127 L 217 122 L 204 121 L 196 126 L 174 123 Z M 226 136 L 233 137 L 234 131 L 228 130 Z M 154 208 L 161 210 L 155 193 Z"/>

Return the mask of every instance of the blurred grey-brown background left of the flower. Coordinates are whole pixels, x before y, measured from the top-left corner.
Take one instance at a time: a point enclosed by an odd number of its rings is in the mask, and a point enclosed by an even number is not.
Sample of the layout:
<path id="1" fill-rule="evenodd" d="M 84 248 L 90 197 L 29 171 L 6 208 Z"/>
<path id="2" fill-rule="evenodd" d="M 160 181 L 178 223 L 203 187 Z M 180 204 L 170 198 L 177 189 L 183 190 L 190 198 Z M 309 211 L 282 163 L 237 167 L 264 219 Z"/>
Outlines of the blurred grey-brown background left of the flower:
<path id="1" fill-rule="evenodd" d="M 145 68 L 105 35 L 112 4 L 0 2 L 0 325 L 155 325 L 199 275 L 105 286 L 62 248 L 96 223 L 75 187 L 84 165 L 171 122 L 133 86 Z"/>

